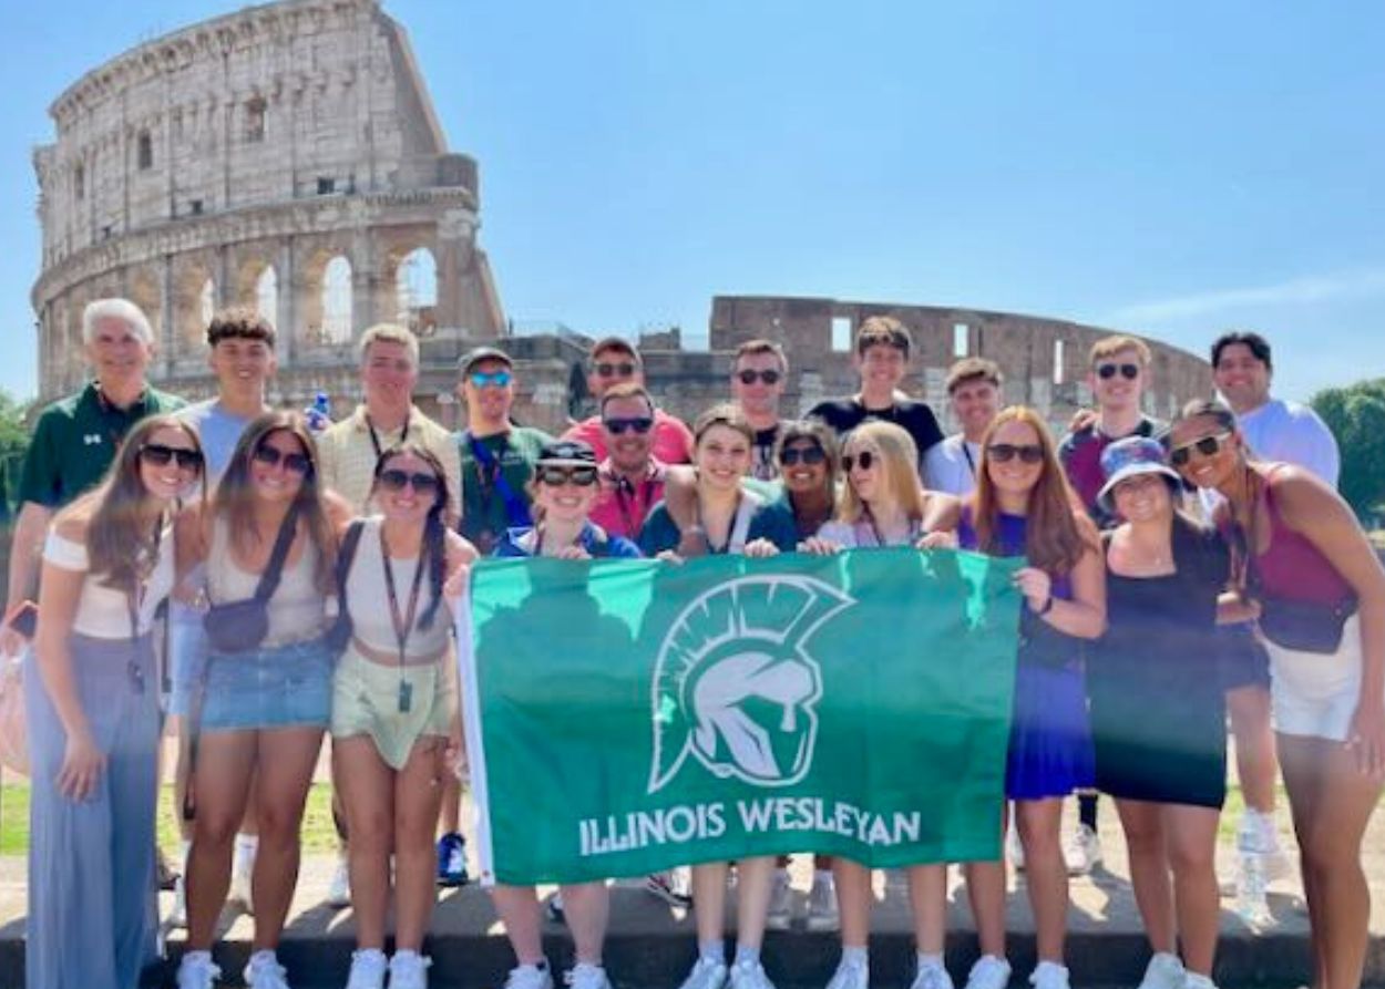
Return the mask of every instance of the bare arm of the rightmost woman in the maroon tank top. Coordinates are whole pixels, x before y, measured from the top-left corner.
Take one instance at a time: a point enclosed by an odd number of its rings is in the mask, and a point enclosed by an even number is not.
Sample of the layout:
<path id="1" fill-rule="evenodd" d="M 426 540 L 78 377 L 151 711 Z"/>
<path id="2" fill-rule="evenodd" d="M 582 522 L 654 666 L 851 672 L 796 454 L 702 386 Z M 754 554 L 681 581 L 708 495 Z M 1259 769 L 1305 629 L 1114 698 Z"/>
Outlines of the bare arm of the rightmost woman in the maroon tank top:
<path id="1" fill-rule="evenodd" d="M 1348 744 L 1363 773 L 1385 776 L 1385 568 L 1342 497 L 1301 468 L 1280 471 L 1274 500 L 1284 524 L 1309 540 L 1356 591 L 1361 690 Z"/>

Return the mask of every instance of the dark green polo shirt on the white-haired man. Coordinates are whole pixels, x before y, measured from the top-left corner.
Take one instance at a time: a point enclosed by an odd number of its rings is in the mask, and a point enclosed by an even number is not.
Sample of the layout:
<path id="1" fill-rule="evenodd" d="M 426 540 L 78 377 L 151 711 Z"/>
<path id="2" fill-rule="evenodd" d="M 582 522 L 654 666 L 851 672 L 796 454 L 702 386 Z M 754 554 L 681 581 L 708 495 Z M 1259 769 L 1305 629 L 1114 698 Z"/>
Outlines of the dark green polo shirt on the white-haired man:
<path id="1" fill-rule="evenodd" d="M 184 404 L 176 395 L 145 388 L 130 407 L 116 409 L 101 396 L 94 381 L 76 395 L 58 399 L 39 413 L 24 457 L 19 503 L 61 508 L 105 476 L 132 425 Z"/>

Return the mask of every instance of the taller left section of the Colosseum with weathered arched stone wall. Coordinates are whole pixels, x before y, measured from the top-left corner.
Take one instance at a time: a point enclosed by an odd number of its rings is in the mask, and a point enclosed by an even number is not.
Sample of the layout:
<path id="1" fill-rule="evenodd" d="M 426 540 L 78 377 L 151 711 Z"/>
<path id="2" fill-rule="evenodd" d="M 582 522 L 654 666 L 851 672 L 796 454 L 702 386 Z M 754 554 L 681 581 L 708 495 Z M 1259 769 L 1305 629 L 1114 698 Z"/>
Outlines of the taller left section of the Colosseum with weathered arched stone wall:
<path id="1" fill-rule="evenodd" d="M 378 0 L 285 0 L 193 25 L 93 69 L 50 115 L 57 140 L 35 152 L 44 398 L 83 380 L 82 309 L 104 295 L 150 314 L 157 381 L 208 392 L 206 309 L 253 305 L 266 271 L 285 402 L 353 378 L 352 339 L 379 320 L 458 341 L 503 331 L 476 247 L 476 163 L 447 151 Z M 407 308 L 400 263 L 420 248 L 436 298 Z M 345 332 L 324 312 L 334 259 L 349 265 Z"/>

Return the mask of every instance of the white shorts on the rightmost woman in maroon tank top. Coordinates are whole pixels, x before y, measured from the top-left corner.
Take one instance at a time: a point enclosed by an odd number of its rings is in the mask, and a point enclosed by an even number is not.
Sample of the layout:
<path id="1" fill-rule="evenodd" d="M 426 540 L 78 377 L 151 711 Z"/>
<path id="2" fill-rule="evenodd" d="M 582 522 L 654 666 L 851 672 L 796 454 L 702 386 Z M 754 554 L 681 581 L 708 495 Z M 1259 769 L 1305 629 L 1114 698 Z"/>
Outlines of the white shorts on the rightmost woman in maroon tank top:
<path id="1" fill-rule="evenodd" d="M 1361 693 L 1360 616 L 1346 619 L 1342 644 L 1332 654 L 1287 650 L 1263 636 L 1262 641 L 1270 654 L 1274 730 L 1346 741 Z"/>

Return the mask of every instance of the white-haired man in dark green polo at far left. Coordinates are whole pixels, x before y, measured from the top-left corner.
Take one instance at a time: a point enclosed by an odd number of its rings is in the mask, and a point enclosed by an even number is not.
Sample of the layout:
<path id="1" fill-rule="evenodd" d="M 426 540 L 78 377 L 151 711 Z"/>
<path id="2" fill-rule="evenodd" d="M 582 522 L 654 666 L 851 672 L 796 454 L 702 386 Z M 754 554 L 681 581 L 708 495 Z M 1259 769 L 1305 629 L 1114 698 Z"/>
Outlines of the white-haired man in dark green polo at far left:
<path id="1" fill-rule="evenodd" d="M 82 313 L 82 344 L 96 378 L 39 414 L 24 458 L 7 615 L 37 591 L 39 554 L 54 513 L 105 476 L 132 425 L 184 404 L 150 386 L 145 371 L 154 356 L 154 330 L 129 299 L 90 303 Z M 0 629 L 0 647 L 18 651 L 18 633 L 8 625 Z"/>

